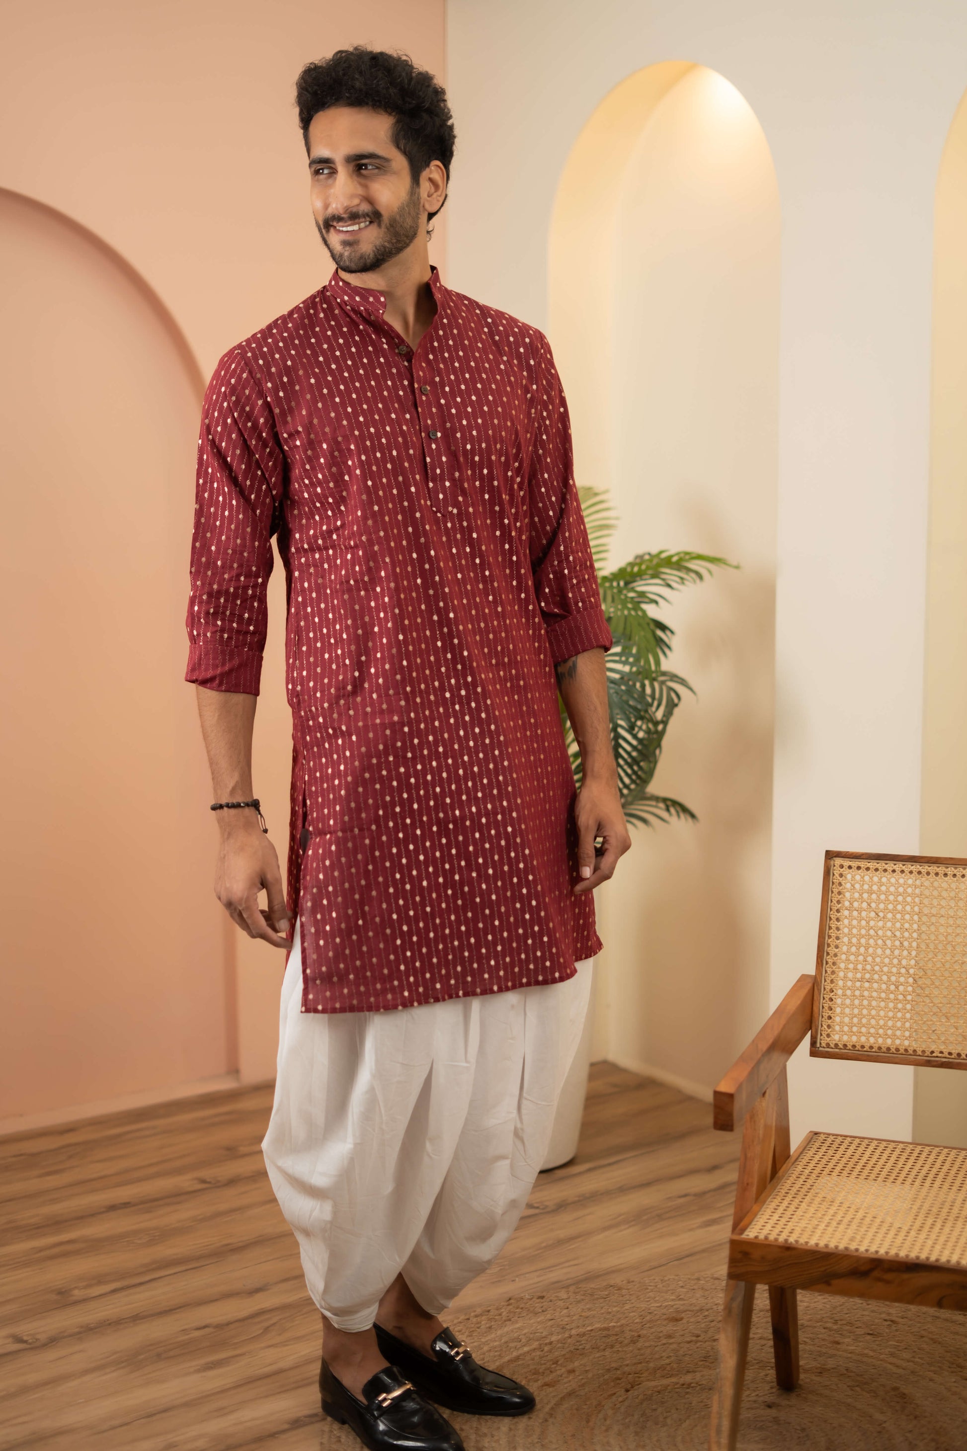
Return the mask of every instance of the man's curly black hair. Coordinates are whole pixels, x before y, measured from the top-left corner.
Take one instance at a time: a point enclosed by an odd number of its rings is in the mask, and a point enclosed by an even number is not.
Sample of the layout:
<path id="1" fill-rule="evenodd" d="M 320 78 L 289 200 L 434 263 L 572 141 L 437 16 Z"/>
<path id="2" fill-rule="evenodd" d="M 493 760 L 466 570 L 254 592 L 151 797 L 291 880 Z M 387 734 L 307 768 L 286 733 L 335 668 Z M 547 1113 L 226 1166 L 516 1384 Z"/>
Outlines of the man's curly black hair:
<path id="1" fill-rule="evenodd" d="M 449 181 L 457 132 L 447 91 L 409 55 L 354 45 L 333 51 L 323 61 L 310 61 L 296 81 L 296 106 L 306 154 L 313 116 L 331 106 L 361 106 L 393 118 L 393 145 L 409 161 L 413 181 L 419 181 L 431 161 L 442 161 Z"/>

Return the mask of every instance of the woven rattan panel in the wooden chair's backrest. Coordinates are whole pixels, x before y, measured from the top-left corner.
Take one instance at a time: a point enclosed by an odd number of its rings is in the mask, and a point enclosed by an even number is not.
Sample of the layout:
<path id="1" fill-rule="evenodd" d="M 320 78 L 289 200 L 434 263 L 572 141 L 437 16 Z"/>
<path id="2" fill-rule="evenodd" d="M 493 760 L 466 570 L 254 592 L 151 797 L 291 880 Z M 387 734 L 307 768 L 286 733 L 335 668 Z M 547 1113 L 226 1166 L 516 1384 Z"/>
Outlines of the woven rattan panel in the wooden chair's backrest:
<path id="1" fill-rule="evenodd" d="M 967 1061 L 967 865 L 831 868 L 815 1046 Z"/>

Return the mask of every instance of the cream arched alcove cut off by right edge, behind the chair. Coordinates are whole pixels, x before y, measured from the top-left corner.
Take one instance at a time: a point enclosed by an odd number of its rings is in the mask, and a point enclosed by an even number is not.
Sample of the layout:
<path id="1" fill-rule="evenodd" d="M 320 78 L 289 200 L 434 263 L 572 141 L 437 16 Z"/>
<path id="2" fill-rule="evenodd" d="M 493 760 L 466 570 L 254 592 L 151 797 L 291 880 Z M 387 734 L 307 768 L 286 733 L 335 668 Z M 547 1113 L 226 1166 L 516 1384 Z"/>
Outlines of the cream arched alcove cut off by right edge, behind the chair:
<path id="1" fill-rule="evenodd" d="M 921 850 L 967 856 L 967 93 L 934 209 Z M 915 1069 L 913 1138 L 967 1148 L 967 1074 Z"/>

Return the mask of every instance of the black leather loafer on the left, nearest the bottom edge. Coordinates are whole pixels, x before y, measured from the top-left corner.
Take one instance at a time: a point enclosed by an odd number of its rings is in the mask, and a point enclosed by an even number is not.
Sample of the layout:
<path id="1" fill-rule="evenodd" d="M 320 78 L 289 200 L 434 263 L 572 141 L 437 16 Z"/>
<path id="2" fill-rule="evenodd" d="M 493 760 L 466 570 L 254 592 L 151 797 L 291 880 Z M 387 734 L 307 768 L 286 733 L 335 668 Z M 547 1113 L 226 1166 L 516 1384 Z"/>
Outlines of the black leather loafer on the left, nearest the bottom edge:
<path id="1" fill-rule="evenodd" d="M 464 1451 L 457 1431 L 428 1406 L 396 1365 L 370 1376 L 360 1400 L 329 1370 L 319 1370 L 323 1415 L 355 1431 L 370 1451 Z"/>

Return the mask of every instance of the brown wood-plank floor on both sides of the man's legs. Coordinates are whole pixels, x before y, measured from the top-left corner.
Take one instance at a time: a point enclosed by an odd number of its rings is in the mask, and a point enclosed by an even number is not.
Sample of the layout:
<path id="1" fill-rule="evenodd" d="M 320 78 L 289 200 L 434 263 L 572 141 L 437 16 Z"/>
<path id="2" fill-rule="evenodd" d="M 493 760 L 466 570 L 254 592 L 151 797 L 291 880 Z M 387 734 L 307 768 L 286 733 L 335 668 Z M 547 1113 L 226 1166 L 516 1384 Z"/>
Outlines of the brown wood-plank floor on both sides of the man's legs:
<path id="1" fill-rule="evenodd" d="M 319 1445 L 319 1316 L 258 1148 L 270 1104 L 236 1090 L 0 1139 L 0 1448 Z M 722 1268 L 738 1142 L 710 1119 L 594 1065 L 576 1159 L 448 1320 Z"/>

